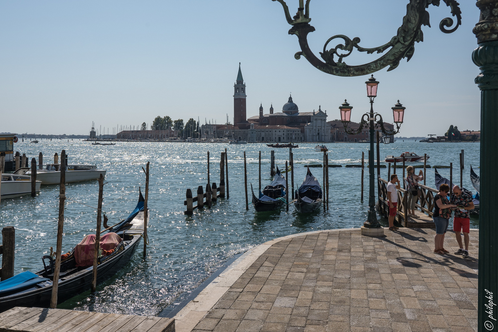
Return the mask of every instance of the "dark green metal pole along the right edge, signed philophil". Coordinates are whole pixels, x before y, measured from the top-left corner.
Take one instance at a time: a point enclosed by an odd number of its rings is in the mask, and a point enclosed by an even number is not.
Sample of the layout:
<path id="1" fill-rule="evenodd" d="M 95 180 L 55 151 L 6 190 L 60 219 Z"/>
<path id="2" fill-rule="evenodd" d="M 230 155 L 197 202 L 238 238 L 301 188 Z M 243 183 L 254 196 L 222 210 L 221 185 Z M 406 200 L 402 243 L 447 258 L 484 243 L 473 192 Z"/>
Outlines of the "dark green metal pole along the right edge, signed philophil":
<path id="1" fill-rule="evenodd" d="M 498 202 L 498 0 L 478 1 L 481 9 L 479 23 L 474 27 L 478 48 L 472 60 L 479 66 L 481 74 L 476 84 L 481 90 L 481 200 L 479 213 L 479 298 L 478 331 L 498 331 L 498 224 L 496 203 Z M 491 302 L 490 302 L 491 301 Z M 494 303 L 495 305 L 493 305 Z M 491 310 L 489 309 L 491 307 Z"/>

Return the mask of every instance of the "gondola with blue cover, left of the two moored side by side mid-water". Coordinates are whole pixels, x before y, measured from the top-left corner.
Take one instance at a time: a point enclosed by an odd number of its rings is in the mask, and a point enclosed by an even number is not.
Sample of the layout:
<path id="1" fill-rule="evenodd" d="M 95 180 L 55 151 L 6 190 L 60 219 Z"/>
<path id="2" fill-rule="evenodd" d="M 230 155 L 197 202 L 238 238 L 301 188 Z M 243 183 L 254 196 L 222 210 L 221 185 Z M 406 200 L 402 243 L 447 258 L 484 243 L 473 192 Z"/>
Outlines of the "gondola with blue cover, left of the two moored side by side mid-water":
<path id="1" fill-rule="evenodd" d="M 271 183 L 259 192 L 259 198 L 254 195 L 252 183 L 250 184 L 252 192 L 252 205 L 257 212 L 276 211 L 285 205 L 285 178 L 277 166 L 277 174 Z"/>

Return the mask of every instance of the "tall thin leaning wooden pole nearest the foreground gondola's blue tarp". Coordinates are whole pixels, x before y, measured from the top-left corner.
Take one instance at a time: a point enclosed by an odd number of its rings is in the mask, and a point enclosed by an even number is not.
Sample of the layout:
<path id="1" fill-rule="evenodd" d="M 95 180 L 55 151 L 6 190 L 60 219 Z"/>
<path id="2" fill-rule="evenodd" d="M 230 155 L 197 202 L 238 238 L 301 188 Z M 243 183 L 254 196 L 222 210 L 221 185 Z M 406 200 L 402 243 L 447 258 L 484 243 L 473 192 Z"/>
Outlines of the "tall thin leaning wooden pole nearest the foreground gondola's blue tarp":
<path id="1" fill-rule="evenodd" d="M 61 268 L 61 252 L 62 252 L 62 233 L 64 231 L 64 201 L 66 200 L 66 167 L 64 167 L 64 157 L 66 151 L 61 153 L 61 177 L 59 189 L 59 221 L 57 223 L 57 246 L 55 247 L 55 267 L 54 279 L 52 283 L 52 298 L 50 299 L 50 308 L 57 308 L 57 288 L 59 287 L 59 272 Z M 58 158 L 57 153 L 55 154 Z M 55 157 L 54 157 L 55 158 Z"/>

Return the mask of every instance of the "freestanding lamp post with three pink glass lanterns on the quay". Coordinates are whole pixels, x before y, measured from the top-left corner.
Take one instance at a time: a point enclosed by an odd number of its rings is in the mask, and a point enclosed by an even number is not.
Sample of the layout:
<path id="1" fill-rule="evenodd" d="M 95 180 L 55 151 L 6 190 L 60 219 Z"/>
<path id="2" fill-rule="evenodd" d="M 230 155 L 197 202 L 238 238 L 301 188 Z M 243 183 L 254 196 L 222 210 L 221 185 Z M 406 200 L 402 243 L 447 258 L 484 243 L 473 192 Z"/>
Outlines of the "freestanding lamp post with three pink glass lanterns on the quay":
<path id="1" fill-rule="evenodd" d="M 374 134 L 375 134 L 375 127 L 380 126 L 380 130 L 382 130 L 382 133 L 385 135 L 394 135 L 399 132 L 399 126 L 401 123 L 403 123 L 403 115 L 404 115 L 404 110 L 405 108 L 403 105 L 397 102 L 396 105 L 394 105 L 392 109 L 392 115 L 394 117 L 394 123 L 396 123 L 396 129 L 392 130 L 386 130 L 384 128 L 384 122 L 382 121 L 382 115 L 378 113 L 373 112 L 373 99 L 377 97 L 377 86 L 378 82 L 375 81 L 373 78 L 373 75 L 367 82 L 367 97 L 370 98 L 370 113 L 365 113 L 362 115 L 362 120 L 360 122 L 360 127 L 357 130 L 353 129 L 348 129 L 348 123 L 351 121 L 351 110 L 353 107 L 348 104 L 348 102 L 345 100 L 344 103 L 339 106 L 339 110 L 341 112 L 341 121 L 344 124 L 344 130 L 351 134 L 351 135 L 357 135 L 360 132 L 362 132 L 362 129 L 364 126 L 369 126 L 370 129 L 370 151 L 369 151 L 369 213 L 368 213 L 368 218 L 367 221 L 363 223 L 365 227 L 369 228 L 379 228 L 380 223 L 377 220 L 377 213 L 375 212 L 375 191 L 374 191 L 374 186 L 375 186 L 375 172 L 374 172 L 374 167 L 373 167 L 373 160 L 374 160 L 374 155 L 373 155 L 373 149 L 374 149 Z M 378 119 L 377 119 L 378 117 Z"/>

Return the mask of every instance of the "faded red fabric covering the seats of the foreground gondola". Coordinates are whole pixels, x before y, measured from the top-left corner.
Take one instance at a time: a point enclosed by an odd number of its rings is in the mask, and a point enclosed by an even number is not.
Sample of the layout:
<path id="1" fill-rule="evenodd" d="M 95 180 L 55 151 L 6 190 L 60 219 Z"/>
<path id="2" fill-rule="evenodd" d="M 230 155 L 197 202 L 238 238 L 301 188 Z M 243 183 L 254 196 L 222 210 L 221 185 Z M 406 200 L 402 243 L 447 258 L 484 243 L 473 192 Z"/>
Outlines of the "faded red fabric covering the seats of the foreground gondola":
<path id="1" fill-rule="evenodd" d="M 100 248 L 102 250 L 111 250 L 116 248 L 122 241 L 121 237 L 116 233 L 107 233 L 100 238 Z M 93 265 L 95 253 L 95 234 L 89 234 L 74 248 L 74 259 L 76 266 L 91 266 Z"/>

